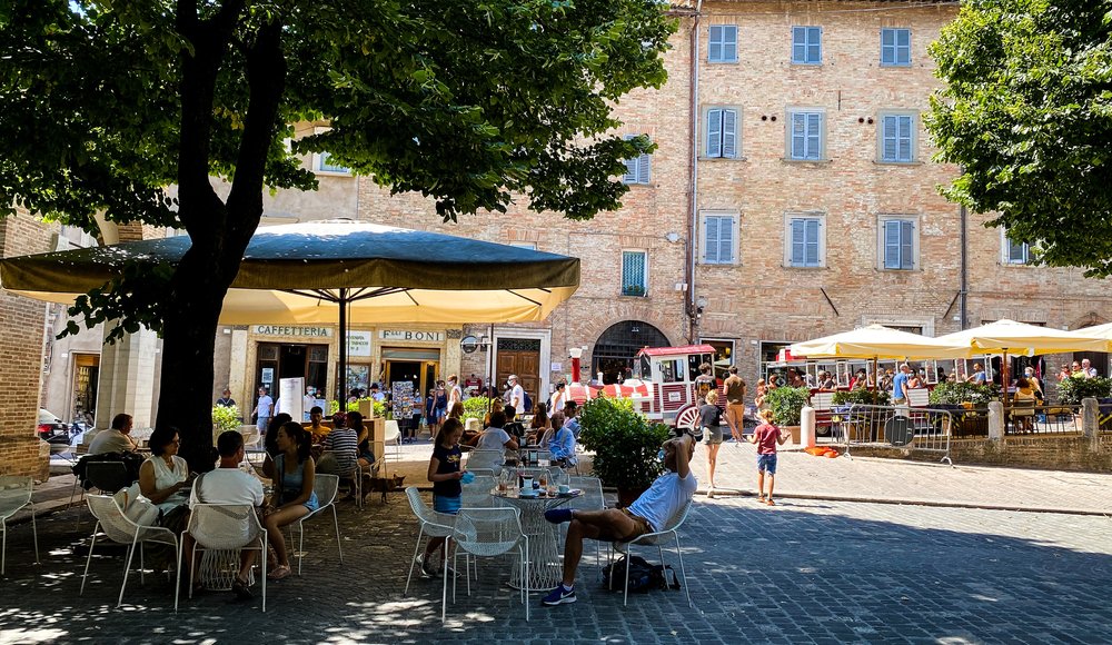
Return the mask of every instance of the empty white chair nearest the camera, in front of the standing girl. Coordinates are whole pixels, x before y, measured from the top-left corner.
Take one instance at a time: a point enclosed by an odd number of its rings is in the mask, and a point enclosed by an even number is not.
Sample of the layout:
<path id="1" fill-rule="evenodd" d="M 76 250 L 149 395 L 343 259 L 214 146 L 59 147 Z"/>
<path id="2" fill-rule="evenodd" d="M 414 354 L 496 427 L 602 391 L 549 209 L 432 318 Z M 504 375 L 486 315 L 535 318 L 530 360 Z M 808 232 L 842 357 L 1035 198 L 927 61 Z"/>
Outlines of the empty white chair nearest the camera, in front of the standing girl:
<path id="1" fill-rule="evenodd" d="M 496 557 L 510 552 L 517 552 L 522 558 L 522 604 L 525 605 L 525 621 L 529 621 L 529 536 L 522 530 L 520 510 L 515 507 L 498 508 L 460 508 L 451 528 L 451 539 L 456 543 L 456 552 L 451 557 L 453 565 L 465 556 Z M 471 595 L 471 578 L 467 576 L 467 595 Z M 451 598 L 456 598 L 456 577 L 451 576 Z M 440 606 L 440 621 L 448 617 L 448 576 L 444 576 L 444 592 Z"/>

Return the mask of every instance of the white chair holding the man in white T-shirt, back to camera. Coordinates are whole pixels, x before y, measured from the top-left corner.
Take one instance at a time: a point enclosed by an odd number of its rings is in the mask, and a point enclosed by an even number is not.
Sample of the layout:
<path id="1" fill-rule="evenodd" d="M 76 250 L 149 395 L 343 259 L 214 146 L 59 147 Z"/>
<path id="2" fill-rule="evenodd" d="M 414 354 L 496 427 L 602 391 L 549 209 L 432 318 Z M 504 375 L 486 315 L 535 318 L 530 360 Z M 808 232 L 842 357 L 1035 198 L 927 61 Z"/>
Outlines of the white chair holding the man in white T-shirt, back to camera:
<path id="1" fill-rule="evenodd" d="M 186 528 L 193 538 L 192 562 L 197 552 L 205 550 L 258 550 L 262 567 L 262 611 L 267 611 L 267 532 L 259 523 L 255 508 L 245 504 L 196 504 L 189 515 Z M 178 570 L 181 570 L 185 539 L 178 549 Z M 239 560 L 236 560 L 237 573 Z M 193 570 L 189 570 L 189 597 L 193 597 Z M 178 596 L 173 597 L 173 611 L 178 611 Z"/>

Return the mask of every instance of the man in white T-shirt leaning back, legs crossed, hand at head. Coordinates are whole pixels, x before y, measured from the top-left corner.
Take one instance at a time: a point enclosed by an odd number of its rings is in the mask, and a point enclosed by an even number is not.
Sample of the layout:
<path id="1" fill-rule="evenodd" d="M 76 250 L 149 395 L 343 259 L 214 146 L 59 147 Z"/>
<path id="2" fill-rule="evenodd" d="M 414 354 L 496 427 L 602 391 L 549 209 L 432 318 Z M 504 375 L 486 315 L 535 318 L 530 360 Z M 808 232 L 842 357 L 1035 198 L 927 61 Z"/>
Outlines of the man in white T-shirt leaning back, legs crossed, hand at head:
<path id="1" fill-rule="evenodd" d="M 698 482 L 691 472 L 695 439 L 684 435 L 664 443 L 664 467 L 648 490 L 627 508 L 576 510 L 559 507 L 545 512 L 553 524 L 570 522 L 564 540 L 564 579 L 540 603 L 549 607 L 575 602 L 575 570 L 583 557 L 583 539 L 629 542 L 646 533 L 658 533 L 695 495 Z"/>

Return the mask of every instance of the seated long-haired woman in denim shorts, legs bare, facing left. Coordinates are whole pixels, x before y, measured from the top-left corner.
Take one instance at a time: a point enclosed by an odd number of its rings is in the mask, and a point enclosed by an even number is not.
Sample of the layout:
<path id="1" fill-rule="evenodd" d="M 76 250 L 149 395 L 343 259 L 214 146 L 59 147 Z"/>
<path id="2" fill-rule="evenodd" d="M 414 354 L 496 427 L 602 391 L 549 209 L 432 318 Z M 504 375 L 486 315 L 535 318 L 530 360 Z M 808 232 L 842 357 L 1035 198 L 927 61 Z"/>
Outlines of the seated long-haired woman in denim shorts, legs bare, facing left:
<path id="1" fill-rule="evenodd" d="M 309 455 L 309 433 L 301 424 L 289 421 L 278 430 L 278 455 L 267 457 L 262 472 L 275 480 L 277 499 L 267 507 L 264 525 L 267 539 L 277 556 L 277 566 L 267 574 L 274 580 L 289 577 L 289 554 L 281 528 L 320 507 L 312 490 L 316 464 Z"/>

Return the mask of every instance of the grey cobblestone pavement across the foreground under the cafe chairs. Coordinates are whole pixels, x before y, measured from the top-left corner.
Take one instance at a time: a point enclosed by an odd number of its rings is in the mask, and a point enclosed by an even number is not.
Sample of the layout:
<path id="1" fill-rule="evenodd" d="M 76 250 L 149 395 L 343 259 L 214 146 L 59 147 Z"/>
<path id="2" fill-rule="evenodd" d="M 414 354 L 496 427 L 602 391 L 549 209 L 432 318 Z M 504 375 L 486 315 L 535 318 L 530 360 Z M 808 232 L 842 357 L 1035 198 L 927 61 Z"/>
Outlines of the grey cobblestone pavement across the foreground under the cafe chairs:
<path id="1" fill-rule="evenodd" d="M 470 597 L 460 587 L 441 625 L 438 583 L 416 579 L 401 594 L 417 533 L 404 496 L 339 513 L 345 563 L 329 518 L 315 519 L 305 575 L 269 585 L 266 614 L 258 597 L 209 593 L 176 615 L 157 575 L 145 586 L 132 576 L 117 609 L 119 548 L 98 547 L 79 596 L 88 510 L 40 518 L 41 565 L 31 564 L 30 525 L 18 525 L 0 578 L 0 643 L 1112 642 L 1108 517 L 698 497 L 683 530 L 694 609 L 683 592 L 664 591 L 623 607 L 620 594 L 599 588 L 588 548 L 578 603 L 545 608 L 534 594 L 526 623 L 503 584 L 508 562 L 484 562 L 483 582 Z"/>

